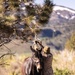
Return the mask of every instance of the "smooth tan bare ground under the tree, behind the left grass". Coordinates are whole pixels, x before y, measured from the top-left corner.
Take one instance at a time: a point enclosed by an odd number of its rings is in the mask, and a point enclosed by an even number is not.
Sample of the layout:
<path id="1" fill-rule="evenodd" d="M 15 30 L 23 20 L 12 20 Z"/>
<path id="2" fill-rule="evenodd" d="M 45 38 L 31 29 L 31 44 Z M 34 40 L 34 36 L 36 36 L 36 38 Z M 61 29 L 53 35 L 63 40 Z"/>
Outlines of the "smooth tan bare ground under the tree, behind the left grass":
<path id="1" fill-rule="evenodd" d="M 30 45 L 32 45 L 32 43 L 14 39 L 10 43 L 4 44 L 0 47 L 0 55 L 7 53 L 10 50 L 12 53 L 18 54 L 30 53 Z"/>

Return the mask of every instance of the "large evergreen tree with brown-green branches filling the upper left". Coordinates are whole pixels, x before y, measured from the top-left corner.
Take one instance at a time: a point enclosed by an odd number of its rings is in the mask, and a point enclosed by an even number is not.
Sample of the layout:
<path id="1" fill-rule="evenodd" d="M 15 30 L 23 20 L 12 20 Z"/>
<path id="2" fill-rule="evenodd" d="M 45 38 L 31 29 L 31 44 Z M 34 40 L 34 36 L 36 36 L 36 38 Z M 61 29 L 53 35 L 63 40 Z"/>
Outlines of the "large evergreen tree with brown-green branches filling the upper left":
<path id="1" fill-rule="evenodd" d="M 22 39 L 34 37 L 42 23 L 47 23 L 52 13 L 53 3 L 45 0 L 41 7 L 34 0 L 0 0 L 0 31 L 15 33 Z M 23 26 L 23 27 L 22 27 Z"/>

